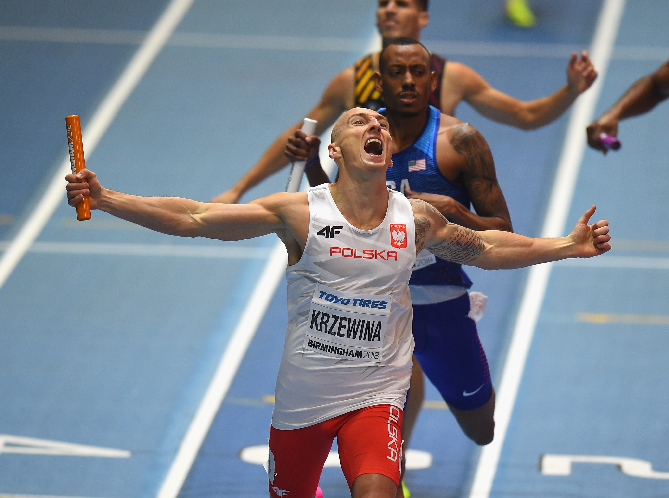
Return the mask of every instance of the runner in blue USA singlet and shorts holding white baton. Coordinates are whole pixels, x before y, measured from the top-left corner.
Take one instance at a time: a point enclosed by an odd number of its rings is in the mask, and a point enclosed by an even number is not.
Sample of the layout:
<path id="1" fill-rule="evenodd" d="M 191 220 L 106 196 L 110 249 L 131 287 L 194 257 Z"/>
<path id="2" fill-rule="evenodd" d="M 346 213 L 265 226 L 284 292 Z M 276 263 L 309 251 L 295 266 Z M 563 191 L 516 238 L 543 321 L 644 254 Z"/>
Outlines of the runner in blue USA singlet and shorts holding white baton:
<path id="1" fill-rule="evenodd" d="M 393 138 L 393 167 L 386 172 L 386 184 L 431 203 L 463 227 L 512 231 L 486 140 L 469 124 L 428 104 L 437 80 L 429 63 L 429 51 L 411 38 L 393 40 L 381 53 L 381 71 L 374 81 L 387 105 L 379 112 Z M 306 169 L 312 185 L 329 181 L 320 168 L 318 145 L 317 137 L 307 138 L 298 130 L 286 148 L 291 160 L 313 163 Z M 419 257 L 424 263 L 409 281 L 417 358 L 402 425 L 404 449 L 423 402 L 423 370 L 465 434 L 487 445 L 494 435 L 494 389 L 476 322 L 468 316 L 472 282 L 460 265 L 429 256 Z"/>

